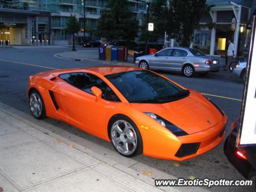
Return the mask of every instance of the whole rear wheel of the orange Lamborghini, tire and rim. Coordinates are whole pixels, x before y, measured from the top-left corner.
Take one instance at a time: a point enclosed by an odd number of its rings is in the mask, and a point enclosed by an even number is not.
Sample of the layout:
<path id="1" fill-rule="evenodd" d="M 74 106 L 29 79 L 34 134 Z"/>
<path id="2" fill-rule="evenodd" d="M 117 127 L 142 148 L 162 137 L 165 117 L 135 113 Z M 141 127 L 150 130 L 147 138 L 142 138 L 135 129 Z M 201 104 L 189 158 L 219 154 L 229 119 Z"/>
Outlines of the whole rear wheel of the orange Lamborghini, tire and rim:
<path id="1" fill-rule="evenodd" d="M 30 112 L 35 118 L 37 119 L 46 118 L 44 100 L 36 89 L 30 92 L 29 106 L 30 106 Z"/>

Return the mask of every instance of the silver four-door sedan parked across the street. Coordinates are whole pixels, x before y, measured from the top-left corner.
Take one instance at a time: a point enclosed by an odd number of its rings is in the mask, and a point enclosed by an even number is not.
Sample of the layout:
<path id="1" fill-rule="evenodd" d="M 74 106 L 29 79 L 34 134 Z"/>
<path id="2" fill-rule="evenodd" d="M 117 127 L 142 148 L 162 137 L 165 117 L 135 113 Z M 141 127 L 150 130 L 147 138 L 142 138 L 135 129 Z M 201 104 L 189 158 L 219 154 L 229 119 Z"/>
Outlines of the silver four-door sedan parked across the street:
<path id="1" fill-rule="evenodd" d="M 144 69 L 182 72 L 186 77 L 220 70 L 217 58 L 206 56 L 196 49 L 182 47 L 166 48 L 153 55 L 137 57 L 135 64 Z"/>

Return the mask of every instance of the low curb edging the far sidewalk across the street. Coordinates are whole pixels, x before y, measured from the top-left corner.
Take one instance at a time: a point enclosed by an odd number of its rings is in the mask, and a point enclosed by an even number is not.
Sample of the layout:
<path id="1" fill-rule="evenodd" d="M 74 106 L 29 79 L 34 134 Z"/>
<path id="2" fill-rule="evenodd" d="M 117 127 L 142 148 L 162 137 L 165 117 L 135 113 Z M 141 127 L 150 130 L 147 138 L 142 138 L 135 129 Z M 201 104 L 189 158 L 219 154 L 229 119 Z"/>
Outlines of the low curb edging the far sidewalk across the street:
<path id="1" fill-rule="evenodd" d="M 134 63 L 127 63 L 127 62 L 112 62 L 112 61 L 103 61 L 103 60 L 97 60 L 97 59 L 82 59 L 82 58 L 72 58 L 72 57 L 63 57 L 59 55 L 60 53 L 54 54 L 53 56 L 56 58 L 61 59 L 68 59 L 68 60 L 75 60 L 75 61 L 82 61 L 82 62 L 97 62 L 102 64 L 110 64 L 110 65 L 124 65 L 124 66 L 136 66 Z M 220 77 L 220 78 L 228 78 L 228 79 L 237 79 L 240 80 L 239 77 L 234 76 L 231 72 L 230 74 L 218 74 L 218 72 L 209 73 L 207 76 L 209 77 Z"/>

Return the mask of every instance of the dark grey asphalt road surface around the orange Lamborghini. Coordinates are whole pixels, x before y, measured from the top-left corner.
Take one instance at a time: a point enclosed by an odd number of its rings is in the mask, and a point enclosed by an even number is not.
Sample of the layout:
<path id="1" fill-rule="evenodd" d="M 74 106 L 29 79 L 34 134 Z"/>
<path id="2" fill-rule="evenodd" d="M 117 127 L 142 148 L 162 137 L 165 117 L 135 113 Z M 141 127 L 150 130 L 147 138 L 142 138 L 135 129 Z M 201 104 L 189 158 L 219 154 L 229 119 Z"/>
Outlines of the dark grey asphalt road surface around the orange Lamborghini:
<path id="1" fill-rule="evenodd" d="M 51 70 L 51 68 L 77 68 L 82 66 L 101 65 L 95 62 L 80 62 L 55 58 L 53 54 L 69 51 L 70 47 L 63 48 L 0 48 L 0 102 L 12 106 L 18 110 L 30 114 L 28 110 L 28 100 L 26 89 L 28 76 Z M 78 48 L 78 50 L 92 50 L 92 48 Z M 243 83 L 237 79 L 214 78 L 210 76 L 196 76 L 194 78 L 185 78 L 181 74 L 169 72 L 160 72 L 178 84 L 190 89 L 200 91 L 209 96 L 228 116 L 226 127 L 226 136 L 230 133 L 230 124 L 239 112 L 241 102 L 235 99 L 242 99 Z M 220 98 L 224 96 L 227 98 Z M 186 117 L 184 117 L 186 119 Z M 92 143 L 100 145 L 101 148 L 112 150 L 114 148 L 108 142 L 98 139 L 90 134 L 86 134 L 72 126 L 58 122 L 56 120 L 46 119 L 45 121 L 58 126 L 60 130 L 68 131 L 69 138 L 76 135 Z M 61 131 L 60 131 L 61 132 Z M 75 141 L 76 142 L 76 141 Z M 210 152 L 184 162 L 174 162 L 168 160 L 159 160 L 143 155 L 133 158 L 134 160 L 152 168 L 156 168 L 167 174 L 189 178 L 190 176 L 210 179 L 234 179 L 244 180 L 235 168 L 226 160 L 223 154 L 223 143 Z M 136 169 L 136 167 L 134 167 Z M 164 178 L 168 179 L 168 178 Z M 255 180 L 255 178 L 253 178 Z M 254 184 L 255 185 L 255 184 Z M 254 191 L 254 186 L 245 187 L 214 187 L 212 191 Z"/>

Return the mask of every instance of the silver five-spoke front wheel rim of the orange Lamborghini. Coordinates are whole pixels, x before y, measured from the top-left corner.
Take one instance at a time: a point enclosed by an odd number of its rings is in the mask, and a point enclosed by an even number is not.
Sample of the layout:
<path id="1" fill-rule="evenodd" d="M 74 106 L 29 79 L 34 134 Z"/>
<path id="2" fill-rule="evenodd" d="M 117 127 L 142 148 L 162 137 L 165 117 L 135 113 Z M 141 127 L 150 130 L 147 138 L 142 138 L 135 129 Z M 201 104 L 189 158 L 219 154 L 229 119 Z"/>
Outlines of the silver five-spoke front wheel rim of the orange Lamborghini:
<path id="1" fill-rule="evenodd" d="M 125 120 L 117 120 L 111 127 L 111 140 L 118 152 L 130 155 L 136 150 L 137 135 L 134 128 Z"/>

